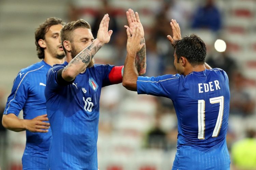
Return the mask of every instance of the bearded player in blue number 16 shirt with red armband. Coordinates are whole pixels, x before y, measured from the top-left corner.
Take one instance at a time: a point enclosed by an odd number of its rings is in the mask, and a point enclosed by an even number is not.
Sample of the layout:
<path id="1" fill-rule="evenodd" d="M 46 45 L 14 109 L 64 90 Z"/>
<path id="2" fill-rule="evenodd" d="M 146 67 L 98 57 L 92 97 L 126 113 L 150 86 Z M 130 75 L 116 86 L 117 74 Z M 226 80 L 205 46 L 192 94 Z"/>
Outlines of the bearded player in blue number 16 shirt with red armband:
<path id="1" fill-rule="evenodd" d="M 130 12 L 128 19 L 133 18 L 134 12 Z M 129 21 L 129 27 L 137 26 L 143 30 L 140 22 Z M 109 16 L 106 14 L 101 20 L 96 39 L 90 25 L 82 19 L 67 23 L 61 30 L 66 62 L 48 71 L 45 88 L 53 137 L 48 156 L 51 170 L 98 169 L 101 88 L 121 83 L 123 79 L 123 66 L 97 65 L 92 60 L 96 52 L 110 40 L 112 31 L 108 31 L 108 26 Z M 141 39 L 144 40 L 144 37 L 140 36 Z M 140 62 L 136 62 L 141 64 L 141 73 L 145 72 L 145 55 L 143 46 L 137 53 Z"/>

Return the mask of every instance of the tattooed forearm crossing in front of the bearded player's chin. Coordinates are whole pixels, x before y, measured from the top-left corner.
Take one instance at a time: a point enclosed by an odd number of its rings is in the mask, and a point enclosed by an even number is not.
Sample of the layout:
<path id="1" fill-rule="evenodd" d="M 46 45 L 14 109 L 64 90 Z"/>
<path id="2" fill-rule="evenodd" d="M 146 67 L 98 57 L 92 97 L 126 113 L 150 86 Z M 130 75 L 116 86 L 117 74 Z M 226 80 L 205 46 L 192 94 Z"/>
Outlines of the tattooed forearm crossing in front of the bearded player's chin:
<path id="1" fill-rule="evenodd" d="M 93 43 L 91 43 L 87 48 L 85 48 L 84 50 L 82 50 L 79 54 L 77 54 L 70 62 L 69 65 L 77 65 L 77 63 L 79 62 L 83 62 L 85 64 L 85 66 L 87 67 L 89 65 L 89 63 L 91 62 L 91 60 L 93 59 L 94 55 L 96 54 L 97 51 L 99 51 L 99 49 L 102 47 L 101 44 L 99 44 L 96 41 L 93 41 Z M 67 67 L 65 67 L 65 69 L 67 69 Z M 65 71 L 65 69 L 63 69 L 63 71 Z"/>

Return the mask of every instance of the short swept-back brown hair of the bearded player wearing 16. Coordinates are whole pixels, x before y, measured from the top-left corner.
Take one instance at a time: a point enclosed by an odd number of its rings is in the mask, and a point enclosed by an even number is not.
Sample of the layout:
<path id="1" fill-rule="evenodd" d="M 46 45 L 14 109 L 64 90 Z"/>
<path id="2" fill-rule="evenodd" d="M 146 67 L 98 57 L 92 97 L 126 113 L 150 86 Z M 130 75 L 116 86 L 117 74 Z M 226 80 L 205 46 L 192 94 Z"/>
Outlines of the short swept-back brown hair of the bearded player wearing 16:
<path id="1" fill-rule="evenodd" d="M 91 30 L 91 26 L 88 22 L 86 22 L 83 19 L 79 19 L 77 21 L 71 21 L 71 22 L 67 23 L 60 31 L 61 45 L 66 54 L 67 54 L 67 51 L 66 51 L 65 47 L 63 46 L 63 42 L 65 40 L 72 42 L 73 41 L 73 31 L 77 28 L 88 28 L 89 30 Z"/>

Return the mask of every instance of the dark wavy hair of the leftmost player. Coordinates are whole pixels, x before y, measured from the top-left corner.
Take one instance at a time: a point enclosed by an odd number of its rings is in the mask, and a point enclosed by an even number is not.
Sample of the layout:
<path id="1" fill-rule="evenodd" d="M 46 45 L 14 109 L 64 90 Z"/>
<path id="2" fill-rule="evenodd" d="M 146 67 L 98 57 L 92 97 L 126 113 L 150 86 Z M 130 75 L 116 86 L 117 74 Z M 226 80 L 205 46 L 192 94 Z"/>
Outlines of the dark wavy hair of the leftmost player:
<path id="1" fill-rule="evenodd" d="M 40 47 L 38 41 L 40 39 L 45 39 L 45 34 L 51 26 L 61 24 L 65 25 L 61 19 L 52 17 L 45 20 L 44 23 L 40 24 L 39 27 L 35 30 L 35 46 L 37 46 L 37 56 L 40 59 L 44 59 L 44 48 Z"/>

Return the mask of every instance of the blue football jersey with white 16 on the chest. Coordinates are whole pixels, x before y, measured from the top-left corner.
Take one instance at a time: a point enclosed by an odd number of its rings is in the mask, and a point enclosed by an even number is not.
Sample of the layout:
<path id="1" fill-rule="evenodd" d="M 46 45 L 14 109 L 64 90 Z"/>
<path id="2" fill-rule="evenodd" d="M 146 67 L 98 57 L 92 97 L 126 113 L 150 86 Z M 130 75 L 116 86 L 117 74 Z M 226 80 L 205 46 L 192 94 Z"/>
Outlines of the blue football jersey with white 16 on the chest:
<path id="1" fill-rule="evenodd" d="M 72 84 L 60 85 L 57 71 L 67 65 L 55 65 L 47 73 L 45 97 L 52 128 L 49 166 L 51 170 L 97 170 L 100 92 L 111 84 L 114 66 L 94 65 Z"/>

